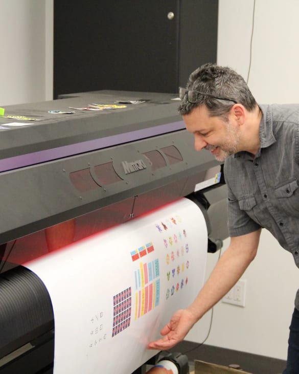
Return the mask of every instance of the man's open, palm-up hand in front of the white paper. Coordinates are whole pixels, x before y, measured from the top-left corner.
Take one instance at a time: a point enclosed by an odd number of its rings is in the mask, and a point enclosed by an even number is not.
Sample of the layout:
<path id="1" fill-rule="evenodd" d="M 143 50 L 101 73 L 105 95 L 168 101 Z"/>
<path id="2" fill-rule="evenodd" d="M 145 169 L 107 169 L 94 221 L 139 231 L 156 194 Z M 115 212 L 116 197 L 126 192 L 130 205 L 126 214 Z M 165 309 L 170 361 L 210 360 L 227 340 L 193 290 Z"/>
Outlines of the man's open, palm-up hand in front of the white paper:
<path id="1" fill-rule="evenodd" d="M 149 349 L 165 350 L 170 349 L 183 340 L 188 334 L 190 328 L 194 325 L 196 319 L 187 309 L 177 311 L 170 322 L 162 328 L 160 334 L 162 339 L 155 340 L 148 344 Z"/>

